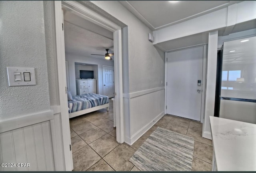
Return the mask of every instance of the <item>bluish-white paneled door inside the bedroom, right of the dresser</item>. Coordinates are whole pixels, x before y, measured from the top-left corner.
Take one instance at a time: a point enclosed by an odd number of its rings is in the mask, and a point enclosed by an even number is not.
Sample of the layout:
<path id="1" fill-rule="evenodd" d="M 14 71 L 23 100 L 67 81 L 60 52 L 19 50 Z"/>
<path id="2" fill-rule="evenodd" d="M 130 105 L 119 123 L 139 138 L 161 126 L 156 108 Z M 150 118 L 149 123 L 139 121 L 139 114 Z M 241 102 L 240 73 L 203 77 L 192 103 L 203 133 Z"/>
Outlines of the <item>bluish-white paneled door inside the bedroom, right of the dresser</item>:
<path id="1" fill-rule="evenodd" d="M 102 66 L 103 71 L 103 94 L 109 98 L 114 97 L 114 67 Z"/>

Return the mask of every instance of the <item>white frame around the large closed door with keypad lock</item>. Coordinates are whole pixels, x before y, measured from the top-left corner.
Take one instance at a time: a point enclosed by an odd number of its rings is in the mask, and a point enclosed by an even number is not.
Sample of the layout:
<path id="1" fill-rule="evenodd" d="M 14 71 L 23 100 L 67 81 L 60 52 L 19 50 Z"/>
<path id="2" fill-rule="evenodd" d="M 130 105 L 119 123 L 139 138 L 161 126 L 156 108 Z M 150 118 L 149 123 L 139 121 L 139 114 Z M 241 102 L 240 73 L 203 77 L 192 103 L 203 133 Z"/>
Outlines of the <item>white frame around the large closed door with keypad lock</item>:
<path id="1" fill-rule="evenodd" d="M 206 61 L 207 61 L 207 44 L 200 44 L 196 46 L 189 46 L 186 48 L 179 48 L 179 49 L 174 49 L 174 50 L 169 50 L 165 52 L 165 60 L 164 60 L 164 113 L 166 114 L 166 107 L 167 107 L 167 54 L 169 52 L 175 52 L 179 50 L 186 50 L 186 49 L 191 49 L 191 48 L 197 48 L 197 47 L 203 47 L 203 75 L 202 75 L 202 101 L 201 101 L 201 115 L 200 115 L 200 122 L 204 123 L 204 102 L 205 102 L 205 90 L 206 90 Z"/>

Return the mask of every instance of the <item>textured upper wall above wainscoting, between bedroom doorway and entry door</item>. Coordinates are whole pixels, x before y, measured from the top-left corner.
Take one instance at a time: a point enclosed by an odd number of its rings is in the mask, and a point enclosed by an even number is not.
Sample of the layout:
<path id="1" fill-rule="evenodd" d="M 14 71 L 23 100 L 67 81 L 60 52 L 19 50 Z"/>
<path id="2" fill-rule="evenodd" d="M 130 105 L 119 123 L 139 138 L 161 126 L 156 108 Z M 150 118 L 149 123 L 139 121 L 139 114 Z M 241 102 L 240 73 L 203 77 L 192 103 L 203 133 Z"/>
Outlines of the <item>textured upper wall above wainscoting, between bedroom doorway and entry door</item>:
<path id="1" fill-rule="evenodd" d="M 128 26 L 129 92 L 164 86 L 164 52 L 148 41 L 150 29 L 117 1 L 92 3 Z"/>

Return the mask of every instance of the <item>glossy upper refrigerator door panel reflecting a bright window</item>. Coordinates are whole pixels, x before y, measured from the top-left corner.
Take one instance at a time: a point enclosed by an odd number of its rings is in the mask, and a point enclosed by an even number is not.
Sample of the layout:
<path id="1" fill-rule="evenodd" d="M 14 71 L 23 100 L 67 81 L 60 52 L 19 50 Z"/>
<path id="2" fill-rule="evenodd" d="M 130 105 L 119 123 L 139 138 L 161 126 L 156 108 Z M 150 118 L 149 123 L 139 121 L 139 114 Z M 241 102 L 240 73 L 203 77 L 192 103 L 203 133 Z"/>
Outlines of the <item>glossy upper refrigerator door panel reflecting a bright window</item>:
<path id="1" fill-rule="evenodd" d="M 224 42 L 221 97 L 256 99 L 256 37 L 248 39 Z"/>

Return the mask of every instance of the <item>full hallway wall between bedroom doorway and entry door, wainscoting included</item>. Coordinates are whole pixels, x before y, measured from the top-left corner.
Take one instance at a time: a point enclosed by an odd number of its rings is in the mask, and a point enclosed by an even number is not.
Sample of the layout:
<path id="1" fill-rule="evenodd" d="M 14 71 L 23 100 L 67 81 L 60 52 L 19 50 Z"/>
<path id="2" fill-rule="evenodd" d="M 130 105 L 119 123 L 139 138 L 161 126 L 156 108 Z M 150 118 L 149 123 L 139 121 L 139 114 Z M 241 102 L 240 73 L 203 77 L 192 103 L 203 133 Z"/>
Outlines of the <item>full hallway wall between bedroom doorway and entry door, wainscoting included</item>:
<path id="1" fill-rule="evenodd" d="M 164 52 L 148 41 L 148 33 L 152 34 L 152 31 L 122 4 L 117 1 L 91 2 L 127 25 L 122 28 L 124 126 L 125 142 L 132 144 L 164 115 L 164 95 L 155 95 L 156 90 L 162 93 L 160 90 L 164 89 Z M 131 96 L 134 94 L 136 98 Z M 156 105 L 155 99 L 163 104 Z M 138 106 L 141 109 L 134 107 L 138 100 L 143 102 Z M 145 113 L 152 105 L 157 111 Z"/>

